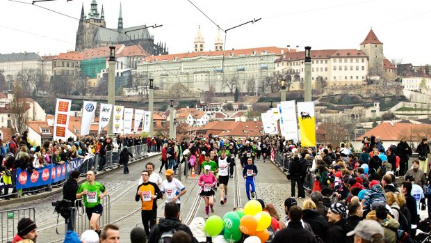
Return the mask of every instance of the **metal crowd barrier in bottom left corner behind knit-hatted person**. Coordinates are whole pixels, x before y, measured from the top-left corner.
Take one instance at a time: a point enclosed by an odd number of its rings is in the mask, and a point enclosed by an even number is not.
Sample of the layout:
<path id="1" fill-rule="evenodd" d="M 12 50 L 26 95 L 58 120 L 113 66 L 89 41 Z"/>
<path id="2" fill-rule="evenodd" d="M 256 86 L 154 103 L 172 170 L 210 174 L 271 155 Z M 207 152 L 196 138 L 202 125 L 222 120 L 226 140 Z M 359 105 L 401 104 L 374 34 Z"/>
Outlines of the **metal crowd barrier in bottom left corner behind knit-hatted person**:
<path id="1" fill-rule="evenodd" d="M 34 207 L 0 211 L 1 243 L 12 240 L 17 233 L 18 221 L 24 217 L 36 222 Z"/>

